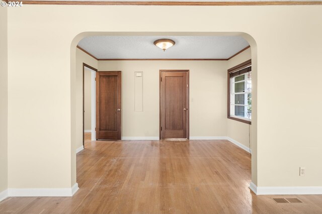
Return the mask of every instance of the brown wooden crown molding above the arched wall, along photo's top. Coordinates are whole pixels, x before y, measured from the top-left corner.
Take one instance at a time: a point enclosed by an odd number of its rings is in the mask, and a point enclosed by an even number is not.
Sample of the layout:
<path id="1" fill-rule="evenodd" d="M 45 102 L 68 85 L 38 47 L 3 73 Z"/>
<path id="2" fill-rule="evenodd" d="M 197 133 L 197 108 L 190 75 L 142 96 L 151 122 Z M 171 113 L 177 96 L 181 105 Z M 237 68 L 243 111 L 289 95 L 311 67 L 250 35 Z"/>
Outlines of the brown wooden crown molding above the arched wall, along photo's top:
<path id="1" fill-rule="evenodd" d="M 3 0 L 8 2 L 8 0 Z M 13 2 L 13 1 L 9 1 Z M 24 5 L 135 5 L 135 6 L 269 6 L 322 5 L 322 1 L 264 1 L 264 2 L 157 2 L 157 1 L 22 1 Z"/>

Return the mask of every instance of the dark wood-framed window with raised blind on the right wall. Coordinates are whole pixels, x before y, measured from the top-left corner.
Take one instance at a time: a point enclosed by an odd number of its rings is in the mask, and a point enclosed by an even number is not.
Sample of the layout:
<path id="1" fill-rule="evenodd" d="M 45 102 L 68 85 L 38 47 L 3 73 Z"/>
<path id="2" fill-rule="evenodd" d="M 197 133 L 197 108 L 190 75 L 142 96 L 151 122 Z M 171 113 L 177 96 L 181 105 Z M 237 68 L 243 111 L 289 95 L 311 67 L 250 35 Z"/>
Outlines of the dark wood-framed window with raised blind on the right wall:
<path id="1" fill-rule="evenodd" d="M 228 69 L 227 118 L 251 124 L 252 61 Z"/>

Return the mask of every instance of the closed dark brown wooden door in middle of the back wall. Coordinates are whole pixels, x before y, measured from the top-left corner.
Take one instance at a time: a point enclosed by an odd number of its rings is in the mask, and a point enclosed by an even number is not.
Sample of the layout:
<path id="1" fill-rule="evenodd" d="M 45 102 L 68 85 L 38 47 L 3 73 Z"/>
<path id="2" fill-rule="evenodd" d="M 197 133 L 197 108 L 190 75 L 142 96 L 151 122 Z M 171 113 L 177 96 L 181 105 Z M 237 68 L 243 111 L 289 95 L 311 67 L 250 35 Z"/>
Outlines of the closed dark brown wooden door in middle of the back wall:
<path id="1" fill-rule="evenodd" d="M 189 139 L 189 71 L 160 74 L 160 139 Z"/>

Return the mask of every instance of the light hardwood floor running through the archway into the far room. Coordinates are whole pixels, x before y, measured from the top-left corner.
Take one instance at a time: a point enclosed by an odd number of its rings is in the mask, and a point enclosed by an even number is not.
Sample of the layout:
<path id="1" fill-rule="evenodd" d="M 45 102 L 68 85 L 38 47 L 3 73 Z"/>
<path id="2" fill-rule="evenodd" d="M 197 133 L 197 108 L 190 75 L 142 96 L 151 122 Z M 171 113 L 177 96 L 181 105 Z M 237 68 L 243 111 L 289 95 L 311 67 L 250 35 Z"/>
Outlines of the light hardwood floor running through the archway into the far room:
<path id="1" fill-rule="evenodd" d="M 321 195 L 277 204 L 252 193 L 250 154 L 225 140 L 90 139 L 73 197 L 9 197 L 0 213 L 322 213 Z"/>

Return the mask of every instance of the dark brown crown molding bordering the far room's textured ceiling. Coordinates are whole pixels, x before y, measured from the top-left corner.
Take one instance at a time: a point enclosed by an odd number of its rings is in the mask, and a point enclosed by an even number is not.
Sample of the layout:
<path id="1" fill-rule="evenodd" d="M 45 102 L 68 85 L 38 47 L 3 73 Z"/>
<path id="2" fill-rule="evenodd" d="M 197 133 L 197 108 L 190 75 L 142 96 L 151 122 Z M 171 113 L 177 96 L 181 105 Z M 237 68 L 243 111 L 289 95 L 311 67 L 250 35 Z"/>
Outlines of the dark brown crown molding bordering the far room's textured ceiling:
<path id="1" fill-rule="evenodd" d="M 155 60 L 156 61 L 160 61 L 160 60 L 169 60 L 169 61 L 227 61 L 227 60 L 231 59 L 232 57 L 237 56 L 241 52 L 249 49 L 251 46 L 247 46 L 243 50 L 238 51 L 237 53 L 235 53 L 234 55 L 232 55 L 231 57 L 229 57 L 227 59 L 98 59 L 93 54 L 89 53 L 88 51 L 84 50 L 83 48 L 79 47 L 78 45 L 76 47 L 79 50 L 82 50 L 83 52 L 87 53 L 88 55 L 90 55 L 91 57 L 93 57 L 94 59 L 96 59 L 98 61 L 134 61 L 134 60 L 145 60 L 145 61 L 153 61 L 153 60 L 154 61 Z"/>

